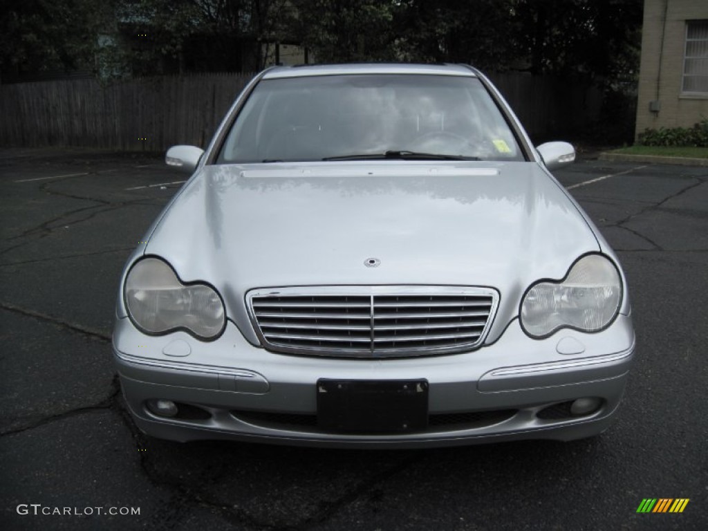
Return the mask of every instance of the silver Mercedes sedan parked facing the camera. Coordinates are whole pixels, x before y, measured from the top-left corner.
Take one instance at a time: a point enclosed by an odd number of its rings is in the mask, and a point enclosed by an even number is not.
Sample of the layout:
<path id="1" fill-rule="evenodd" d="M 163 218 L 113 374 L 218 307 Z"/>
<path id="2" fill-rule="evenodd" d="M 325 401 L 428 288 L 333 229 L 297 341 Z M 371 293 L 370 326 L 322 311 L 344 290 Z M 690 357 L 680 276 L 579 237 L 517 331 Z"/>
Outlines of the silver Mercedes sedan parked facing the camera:
<path id="1" fill-rule="evenodd" d="M 246 86 L 125 265 L 113 350 L 171 440 L 428 447 L 612 422 L 627 282 L 489 79 L 275 67 Z"/>

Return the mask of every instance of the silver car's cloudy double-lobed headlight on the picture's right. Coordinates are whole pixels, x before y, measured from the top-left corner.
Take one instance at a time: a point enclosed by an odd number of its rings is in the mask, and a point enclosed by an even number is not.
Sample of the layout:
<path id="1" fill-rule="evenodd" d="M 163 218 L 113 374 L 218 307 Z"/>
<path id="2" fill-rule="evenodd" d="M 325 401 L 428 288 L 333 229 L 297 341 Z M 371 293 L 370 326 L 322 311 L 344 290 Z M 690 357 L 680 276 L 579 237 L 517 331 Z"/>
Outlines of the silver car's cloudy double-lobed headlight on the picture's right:
<path id="1" fill-rule="evenodd" d="M 590 254 L 578 260 L 564 280 L 532 285 L 521 303 L 521 326 L 533 337 L 564 327 L 599 331 L 615 319 L 621 299 L 622 280 L 615 264 Z"/>

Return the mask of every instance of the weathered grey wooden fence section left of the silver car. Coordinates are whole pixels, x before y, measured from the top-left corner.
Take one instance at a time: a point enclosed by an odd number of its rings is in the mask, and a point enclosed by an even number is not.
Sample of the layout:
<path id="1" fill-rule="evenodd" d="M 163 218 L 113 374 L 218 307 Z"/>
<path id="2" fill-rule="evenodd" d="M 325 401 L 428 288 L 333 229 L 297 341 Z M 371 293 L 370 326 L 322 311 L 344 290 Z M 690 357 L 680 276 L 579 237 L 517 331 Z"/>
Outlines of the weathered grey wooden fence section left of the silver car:
<path id="1" fill-rule="evenodd" d="M 252 75 L 70 79 L 0 86 L 0 145 L 162 151 L 205 146 Z"/>

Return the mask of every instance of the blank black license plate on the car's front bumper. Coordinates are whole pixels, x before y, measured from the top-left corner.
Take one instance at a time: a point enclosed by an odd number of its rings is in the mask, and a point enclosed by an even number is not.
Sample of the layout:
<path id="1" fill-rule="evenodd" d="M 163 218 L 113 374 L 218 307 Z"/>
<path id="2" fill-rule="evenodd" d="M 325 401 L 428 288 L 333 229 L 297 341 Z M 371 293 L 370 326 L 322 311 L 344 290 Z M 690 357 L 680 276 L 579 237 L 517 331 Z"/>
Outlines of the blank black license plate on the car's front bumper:
<path id="1" fill-rule="evenodd" d="M 405 433 L 428 427 L 428 381 L 317 381 L 320 428 L 349 433 Z"/>

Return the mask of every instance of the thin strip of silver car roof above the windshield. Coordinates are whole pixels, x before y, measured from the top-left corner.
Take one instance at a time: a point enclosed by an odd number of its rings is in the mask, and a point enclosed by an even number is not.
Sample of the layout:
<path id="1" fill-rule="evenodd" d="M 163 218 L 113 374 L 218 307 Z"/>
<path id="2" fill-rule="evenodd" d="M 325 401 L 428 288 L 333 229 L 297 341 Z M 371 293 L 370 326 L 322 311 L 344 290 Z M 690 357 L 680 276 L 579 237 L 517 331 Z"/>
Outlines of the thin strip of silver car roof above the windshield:
<path id="1" fill-rule="evenodd" d="M 474 70 L 464 64 L 348 63 L 273 67 L 263 74 L 263 79 L 342 74 L 428 74 L 476 77 Z"/>

